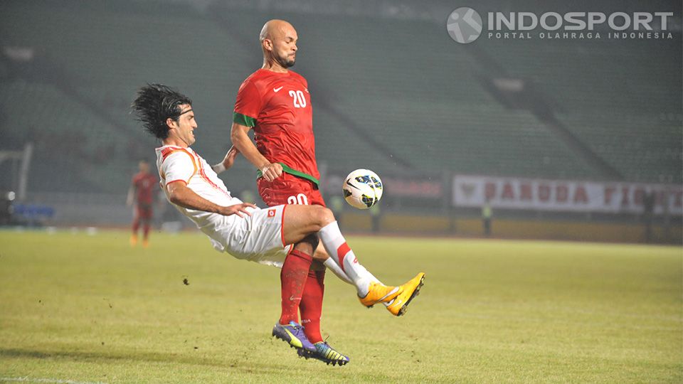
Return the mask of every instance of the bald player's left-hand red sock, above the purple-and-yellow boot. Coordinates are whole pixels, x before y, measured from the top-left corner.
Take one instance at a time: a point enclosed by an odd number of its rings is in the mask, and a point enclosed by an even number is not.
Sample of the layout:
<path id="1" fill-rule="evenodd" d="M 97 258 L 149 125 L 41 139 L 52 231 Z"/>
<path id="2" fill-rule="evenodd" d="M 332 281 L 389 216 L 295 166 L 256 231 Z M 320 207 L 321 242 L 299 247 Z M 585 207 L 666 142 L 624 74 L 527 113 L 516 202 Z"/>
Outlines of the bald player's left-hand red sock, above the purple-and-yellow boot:
<path id="1" fill-rule="evenodd" d="M 282 265 L 280 271 L 280 282 L 282 283 L 282 315 L 280 324 L 289 324 L 290 321 L 299 322 L 299 303 L 308 270 L 311 267 L 313 258 L 300 250 L 292 250 Z"/>

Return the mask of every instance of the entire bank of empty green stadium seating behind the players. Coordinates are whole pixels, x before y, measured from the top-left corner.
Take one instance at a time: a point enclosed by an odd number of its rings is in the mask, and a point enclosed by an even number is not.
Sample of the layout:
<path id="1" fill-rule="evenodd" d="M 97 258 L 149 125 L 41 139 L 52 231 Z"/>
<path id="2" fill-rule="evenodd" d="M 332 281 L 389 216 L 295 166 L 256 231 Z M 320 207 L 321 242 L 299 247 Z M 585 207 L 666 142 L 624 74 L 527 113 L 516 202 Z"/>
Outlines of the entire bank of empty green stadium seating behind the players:
<path id="1" fill-rule="evenodd" d="M 196 149 L 217 160 L 229 144 L 235 93 L 260 65 L 256 37 L 270 16 L 154 1 L 6 4 L 3 44 L 35 48 L 51 71 L 0 82 L 2 132 L 16 143 L 38 138 L 44 151 L 32 169 L 60 191 L 125 191 L 137 159 L 153 159 L 156 145 L 129 102 L 140 85 L 163 82 L 194 99 Z M 491 70 L 428 21 L 277 16 L 297 26 L 295 70 L 309 80 L 317 156 L 329 169 L 603 177 L 533 111 L 503 106 L 480 80 L 507 77 L 535 85 L 558 121 L 626 181 L 681 181 L 680 95 L 672 96 L 680 71 L 650 60 L 652 44 L 556 41 L 530 51 L 489 41 L 479 48 Z M 614 57 L 639 65 L 623 68 Z M 8 68 L 0 62 L 0 75 Z M 678 81 L 662 82 L 662 72 L 677 72 Z M 48 150 L 67 142 L 67 151 Z M 63 169 L 60 178 L 51 164 Z M 253 168 L 238 161 L 235 169 L 233 188 L 253 188 Z M 30 188 L 48 189 L 36 178 Z"/>

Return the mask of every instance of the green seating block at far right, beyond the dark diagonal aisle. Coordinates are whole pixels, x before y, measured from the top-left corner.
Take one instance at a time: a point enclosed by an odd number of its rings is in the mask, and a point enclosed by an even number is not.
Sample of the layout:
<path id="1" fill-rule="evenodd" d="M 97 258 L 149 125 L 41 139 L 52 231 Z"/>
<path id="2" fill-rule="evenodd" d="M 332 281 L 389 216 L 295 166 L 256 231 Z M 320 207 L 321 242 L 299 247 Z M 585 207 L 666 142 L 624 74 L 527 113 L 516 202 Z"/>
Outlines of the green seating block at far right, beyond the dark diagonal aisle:
<path id="1" fill-rule="evenodd" d="M 556 105 L 556 117 L 628 181 L 680 183 L 681 70 L 653 60 L 670 41 L 557 41 L 521 54 L 524 43 L 486 48 L 507 76 L 534 82 Z M 615 63 L 620 58 L 628 65 Z M 667 74 L 667 75 L 662 75 Z"/>

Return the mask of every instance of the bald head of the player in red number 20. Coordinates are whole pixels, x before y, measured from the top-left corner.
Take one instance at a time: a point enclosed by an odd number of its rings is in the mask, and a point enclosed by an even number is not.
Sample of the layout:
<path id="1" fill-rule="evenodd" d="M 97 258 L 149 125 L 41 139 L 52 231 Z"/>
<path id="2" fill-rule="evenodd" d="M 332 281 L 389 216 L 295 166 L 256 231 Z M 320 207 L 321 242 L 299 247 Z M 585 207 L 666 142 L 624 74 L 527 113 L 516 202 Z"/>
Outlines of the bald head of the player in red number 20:
<path id="1" fill-rule="evenodd" d="M 287 70 L 295 63 L 297 30 L 284 20 L 269 20 L 258 36 L 263 50 L 263 68 Z"/>

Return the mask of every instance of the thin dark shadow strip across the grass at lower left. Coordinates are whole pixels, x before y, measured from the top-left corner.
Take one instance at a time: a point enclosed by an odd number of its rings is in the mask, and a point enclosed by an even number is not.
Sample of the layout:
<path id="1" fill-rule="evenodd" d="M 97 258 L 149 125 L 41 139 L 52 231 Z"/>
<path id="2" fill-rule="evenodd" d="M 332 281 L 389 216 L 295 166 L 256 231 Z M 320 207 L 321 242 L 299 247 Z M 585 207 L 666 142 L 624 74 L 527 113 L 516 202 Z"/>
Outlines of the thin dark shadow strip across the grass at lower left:
<path id="1" fill-rule="evenodd" d="M 255 359 L 207 358 L 179 353 L 139 351 L 33 351 L 21 348 L 0 348 L 0 358 L 67 359 L 73 361 L 132 361 L 148 363 L 182 363 L 194 366 L 230 368 L 245 373 L 280 373 L 290 369 L 286 364 L 259 363 Z"/>

